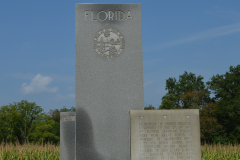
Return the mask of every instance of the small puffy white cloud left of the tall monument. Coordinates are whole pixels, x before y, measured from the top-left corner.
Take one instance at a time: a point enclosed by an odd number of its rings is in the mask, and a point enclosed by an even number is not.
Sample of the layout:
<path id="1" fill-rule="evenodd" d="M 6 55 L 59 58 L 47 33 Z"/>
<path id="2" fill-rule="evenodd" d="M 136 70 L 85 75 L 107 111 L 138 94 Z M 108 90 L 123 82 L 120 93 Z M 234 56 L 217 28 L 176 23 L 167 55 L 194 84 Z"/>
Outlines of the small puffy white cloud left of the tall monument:
<path id="1" fill-rule="evenodd" d="M 29 85 L 27 83 L 22 84 L 22 92 L 24 94 L 31 93 L 56 93 L 58 91 L 57 87 L 49 88 L 47 85 L 51 83 L 52 78 L 49 76 L 42 76 L 38 74 L 34 77 Z"/>

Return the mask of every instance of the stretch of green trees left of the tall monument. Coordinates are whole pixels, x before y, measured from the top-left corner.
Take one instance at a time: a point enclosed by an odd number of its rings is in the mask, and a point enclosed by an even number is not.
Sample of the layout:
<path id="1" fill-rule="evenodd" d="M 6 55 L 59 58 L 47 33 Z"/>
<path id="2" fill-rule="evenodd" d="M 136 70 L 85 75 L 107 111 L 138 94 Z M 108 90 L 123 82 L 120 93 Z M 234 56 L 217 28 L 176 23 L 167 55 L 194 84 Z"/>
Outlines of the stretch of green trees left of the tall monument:
<path id="1" fill-rule="evenodd" d="M 22 100 L 0 108 L 0 143 L 60 142 L 60 112 L 75 112 L 75 108 L 43 112 L 35 102 Z"/>

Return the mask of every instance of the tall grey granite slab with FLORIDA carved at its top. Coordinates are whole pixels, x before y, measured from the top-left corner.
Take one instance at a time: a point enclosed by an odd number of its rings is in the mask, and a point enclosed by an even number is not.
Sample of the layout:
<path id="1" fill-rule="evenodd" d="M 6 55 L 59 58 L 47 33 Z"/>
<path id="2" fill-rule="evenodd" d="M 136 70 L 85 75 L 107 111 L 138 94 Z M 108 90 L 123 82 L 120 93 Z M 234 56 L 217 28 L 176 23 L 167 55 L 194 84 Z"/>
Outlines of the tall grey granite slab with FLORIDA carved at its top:
<path id="1" fill-rule="evenodd" d="M 143 103 L 140 4 L 76 4 L 76 159 L 129 160 Z"/>

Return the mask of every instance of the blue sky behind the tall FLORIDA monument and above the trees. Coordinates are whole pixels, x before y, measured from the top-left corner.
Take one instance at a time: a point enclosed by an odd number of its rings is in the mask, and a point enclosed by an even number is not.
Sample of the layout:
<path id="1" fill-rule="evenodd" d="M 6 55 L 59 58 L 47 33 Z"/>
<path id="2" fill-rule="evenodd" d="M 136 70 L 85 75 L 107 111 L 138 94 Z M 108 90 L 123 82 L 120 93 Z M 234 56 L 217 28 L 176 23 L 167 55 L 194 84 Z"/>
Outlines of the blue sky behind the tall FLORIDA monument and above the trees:
<path id="1" fill-rule="evenodd" d="M 75 106 L 75 3 L 113 2 L 1 0 L 0 106 Z M 117 3 L 142 4 L 144 105 L 161 104 L 169 77 L 187 71 L 206 82 L 240 64 L 238 0 Z"/>

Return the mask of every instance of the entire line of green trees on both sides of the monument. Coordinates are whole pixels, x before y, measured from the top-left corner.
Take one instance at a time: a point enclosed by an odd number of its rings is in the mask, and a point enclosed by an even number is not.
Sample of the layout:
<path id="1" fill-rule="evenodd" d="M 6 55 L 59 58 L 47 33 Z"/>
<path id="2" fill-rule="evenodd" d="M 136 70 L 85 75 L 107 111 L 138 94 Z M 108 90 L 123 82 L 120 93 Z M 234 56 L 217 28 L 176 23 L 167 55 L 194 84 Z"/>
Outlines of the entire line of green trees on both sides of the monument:
<path id="1" fill-rule="evenodd" d="M 157 109 L 199 109 L 201 141 L 240 143 L 240 65 L 204 82 L 202 76 L 184 72 L 166 80 L 167 93 Z M 145 110 L 155 110 L 148 105 Z M 60 112 L 43 112 L 35 102 L 10 103 L 0 108 L 0 143 L 54 143 L 60 141 Z"/>

